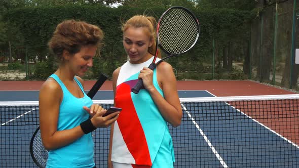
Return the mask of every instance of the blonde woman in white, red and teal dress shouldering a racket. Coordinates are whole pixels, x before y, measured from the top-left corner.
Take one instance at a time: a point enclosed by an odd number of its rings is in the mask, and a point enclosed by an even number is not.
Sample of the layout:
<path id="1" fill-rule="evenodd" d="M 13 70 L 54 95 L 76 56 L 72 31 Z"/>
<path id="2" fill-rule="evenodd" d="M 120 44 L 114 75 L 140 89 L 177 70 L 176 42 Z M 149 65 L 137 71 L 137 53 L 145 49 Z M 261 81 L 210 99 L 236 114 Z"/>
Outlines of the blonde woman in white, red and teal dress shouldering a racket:
<path id="1" fill-rule="evenodd" d="M 113 73 L 115 106 L 123 110 L 111 125 L 108 167 L 173 167 L 167 122 L 177 127 L 182 110 L 171 65 L 147 68 L 156 50 L 155 26 L 155 18 L 136 15 L 122 27 L 129 60 Z M 144 88 L 134 94 L 131 88 L 138 78 Z"/>

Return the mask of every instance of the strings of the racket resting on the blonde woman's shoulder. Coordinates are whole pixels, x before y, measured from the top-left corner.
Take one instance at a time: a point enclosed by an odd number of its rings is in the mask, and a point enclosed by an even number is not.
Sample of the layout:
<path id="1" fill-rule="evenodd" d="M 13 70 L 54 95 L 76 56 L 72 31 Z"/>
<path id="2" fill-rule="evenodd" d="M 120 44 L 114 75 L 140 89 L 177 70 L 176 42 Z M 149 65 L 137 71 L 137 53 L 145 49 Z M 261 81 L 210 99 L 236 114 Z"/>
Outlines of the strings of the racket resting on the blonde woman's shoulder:
<path id="1" fill-rule="evenodd" d="M 183 53 L 196 43 L 197 20 L 183 9 L 168 11 L 160 21 L 158 38 L 161 47 L 171 54 Z"/>

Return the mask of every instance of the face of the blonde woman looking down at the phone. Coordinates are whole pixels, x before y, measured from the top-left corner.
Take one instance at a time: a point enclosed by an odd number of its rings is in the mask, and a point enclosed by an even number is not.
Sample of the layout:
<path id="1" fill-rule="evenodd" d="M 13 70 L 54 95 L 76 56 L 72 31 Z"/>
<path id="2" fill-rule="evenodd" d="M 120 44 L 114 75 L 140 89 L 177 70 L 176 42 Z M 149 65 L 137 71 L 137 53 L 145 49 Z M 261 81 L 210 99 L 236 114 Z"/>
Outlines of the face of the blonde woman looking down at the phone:
<path id="1" fill-rule="evenodd" d="M 124 31 L 124 48 L 130 58 L 130 63 L 139 64 L 152 57 L 147 52 L 148 48 L 153 45 L 153 40 L 149 37 L 146 28 L 129 27 Z"/>

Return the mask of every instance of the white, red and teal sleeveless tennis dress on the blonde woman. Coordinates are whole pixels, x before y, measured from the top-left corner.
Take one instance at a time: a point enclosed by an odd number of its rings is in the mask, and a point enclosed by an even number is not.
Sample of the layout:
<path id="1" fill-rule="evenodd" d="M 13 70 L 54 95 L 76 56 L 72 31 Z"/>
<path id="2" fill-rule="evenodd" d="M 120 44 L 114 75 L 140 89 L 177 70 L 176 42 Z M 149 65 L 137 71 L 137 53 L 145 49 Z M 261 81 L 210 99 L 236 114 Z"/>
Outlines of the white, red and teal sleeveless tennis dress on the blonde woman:
<path id="1" fill-rule="evenodd" d="M 162 117 L 152 97 L 144 88 L 138 94 L 131 92 L 143 67 L 153 61 L 131 64 L 127 61 L 117 79 L 115 103 L 122 112 L 114 125 L 111 161 L 118 167 L 173 167 L 174 151 L 167 122 Z M 159 59 L 157 59 L 159 61 Z M 157 70 L 153 83 L 164 97 L 158 85 Z"/>

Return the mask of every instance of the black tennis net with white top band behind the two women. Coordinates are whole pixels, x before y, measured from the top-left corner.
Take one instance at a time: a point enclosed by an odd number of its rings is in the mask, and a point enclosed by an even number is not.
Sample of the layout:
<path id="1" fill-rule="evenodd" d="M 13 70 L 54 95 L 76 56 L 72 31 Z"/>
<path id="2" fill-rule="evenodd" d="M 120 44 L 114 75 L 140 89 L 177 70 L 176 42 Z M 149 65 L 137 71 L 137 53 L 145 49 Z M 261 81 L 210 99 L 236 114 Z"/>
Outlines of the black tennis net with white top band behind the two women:
<path id="1" fill-rule="evenodd" d="M 180 101 L 181 124 L 169 125 L 175 167 L 299 167 L 299 95 Z M 39 127 L 38 102 L 0 102 L 0 117 L 0 167 L 36 167 L 29 143 Z M 107 167 L 109 128 L 93 138 L 96 166 Z"/>

